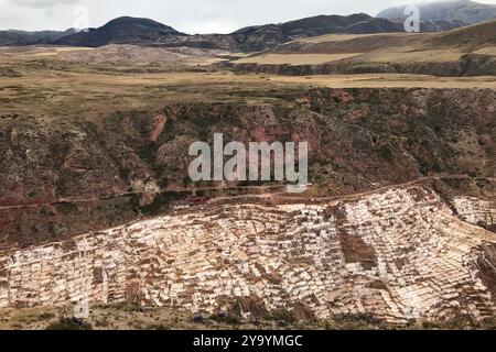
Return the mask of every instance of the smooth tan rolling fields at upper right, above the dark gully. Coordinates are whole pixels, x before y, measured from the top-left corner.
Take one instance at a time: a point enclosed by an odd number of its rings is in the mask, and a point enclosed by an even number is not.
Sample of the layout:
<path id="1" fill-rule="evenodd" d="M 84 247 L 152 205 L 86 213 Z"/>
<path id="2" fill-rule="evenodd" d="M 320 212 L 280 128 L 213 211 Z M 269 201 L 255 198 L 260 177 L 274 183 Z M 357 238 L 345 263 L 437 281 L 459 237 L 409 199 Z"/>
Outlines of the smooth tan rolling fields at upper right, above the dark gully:
<path id="1" fill-rule="evenodd" d="M 330 34 L 280 45 L 274 53 L 251 56 L 235 64 L 349 65 L 453 64 L 466 54 L 495 56 L 496 22 L 442 33 Z"/>

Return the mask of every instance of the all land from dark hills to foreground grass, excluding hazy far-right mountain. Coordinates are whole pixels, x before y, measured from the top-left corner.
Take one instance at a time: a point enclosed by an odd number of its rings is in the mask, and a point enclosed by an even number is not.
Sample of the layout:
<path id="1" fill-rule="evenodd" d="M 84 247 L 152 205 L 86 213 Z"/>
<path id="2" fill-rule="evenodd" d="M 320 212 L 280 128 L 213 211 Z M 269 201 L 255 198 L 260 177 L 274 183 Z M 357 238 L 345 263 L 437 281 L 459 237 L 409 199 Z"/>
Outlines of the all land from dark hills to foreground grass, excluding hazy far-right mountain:
<path id="1" fill-rule="evenodd" d="M 465 20 L 0 33 L 28 41 L 0 46 L 0 329 L 82 300 L 94 329 L 494 328 L 496 22 Z M 214 133 L 308 141 L 306 191 L 192 183 Z"/>

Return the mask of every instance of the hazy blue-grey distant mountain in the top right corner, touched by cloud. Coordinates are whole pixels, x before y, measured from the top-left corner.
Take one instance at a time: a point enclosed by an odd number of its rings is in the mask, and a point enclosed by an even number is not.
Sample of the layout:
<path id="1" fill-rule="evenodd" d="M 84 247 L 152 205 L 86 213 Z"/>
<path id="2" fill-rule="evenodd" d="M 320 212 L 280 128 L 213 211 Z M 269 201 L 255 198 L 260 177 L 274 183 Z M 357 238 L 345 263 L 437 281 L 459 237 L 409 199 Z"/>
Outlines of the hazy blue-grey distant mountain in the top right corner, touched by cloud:
<path id="1" fill-rule="evenodd" d="M 403 19 L 407 6 L 386 9 L 378 18 Z M 422 20 L 462 21 L 470 24 L 496 19 L 496 6 L 470 0 L 442 1 L 419 4 Z"/>

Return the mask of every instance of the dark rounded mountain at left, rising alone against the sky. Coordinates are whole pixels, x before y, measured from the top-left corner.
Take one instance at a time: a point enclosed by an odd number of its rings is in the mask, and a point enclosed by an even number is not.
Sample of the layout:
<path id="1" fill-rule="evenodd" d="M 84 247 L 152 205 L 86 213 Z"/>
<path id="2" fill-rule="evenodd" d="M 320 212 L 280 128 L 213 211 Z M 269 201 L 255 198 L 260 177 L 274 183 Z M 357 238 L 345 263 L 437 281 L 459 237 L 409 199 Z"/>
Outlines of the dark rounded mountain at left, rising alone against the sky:
<path id="1" fill-rule="evenodd" d="M 185 34 L 153 20 L 122 16 L 98 29 L 56 40 L 54 44 L 90 47 L 108 44 L 154 44 L 168 36 L 183 35 Z"/>

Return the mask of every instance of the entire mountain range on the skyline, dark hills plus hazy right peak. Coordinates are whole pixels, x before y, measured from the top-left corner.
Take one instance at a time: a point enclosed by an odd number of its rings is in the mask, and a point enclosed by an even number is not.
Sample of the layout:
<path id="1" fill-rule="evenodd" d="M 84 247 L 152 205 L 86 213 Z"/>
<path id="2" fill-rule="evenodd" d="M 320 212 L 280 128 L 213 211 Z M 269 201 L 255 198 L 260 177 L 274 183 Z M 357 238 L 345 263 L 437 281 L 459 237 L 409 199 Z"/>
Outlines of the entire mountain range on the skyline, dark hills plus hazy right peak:
<path id="1" fill-rule="evenodd" d="M 366 13 L 316 15 L 301 20 L 248 26 L 230 34 L 188 35 L 160 22 L 122 16 L 97 29 L 64 32 L 2 31 L 0 45 L 69 45 L 99 47 L 109 44 L 190 46 L 239 52 L 258 52 L 282 43 L 323 34 L 373 34 L 403 32 L 405 8 L 388 9 L 374 18 Z M 425 14 L 428 13 L 428 14 Z M 421 7 L 421 31 L 440 32 L 496 18 L 496 7 L 472 1 L 443 2 Z"/>

